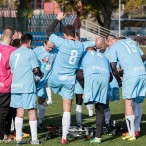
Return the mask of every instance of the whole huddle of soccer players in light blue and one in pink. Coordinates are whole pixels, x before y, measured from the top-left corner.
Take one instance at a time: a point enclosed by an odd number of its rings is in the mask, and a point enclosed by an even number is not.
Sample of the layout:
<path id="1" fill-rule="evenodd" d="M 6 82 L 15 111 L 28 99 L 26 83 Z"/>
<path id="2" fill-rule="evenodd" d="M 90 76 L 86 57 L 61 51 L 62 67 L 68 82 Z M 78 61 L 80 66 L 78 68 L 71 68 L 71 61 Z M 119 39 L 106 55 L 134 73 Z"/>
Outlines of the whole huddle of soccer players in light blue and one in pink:
<path id="1" fill-rule="evenodd" d="M 67 134 L 74 94 L 78 127 L 82 126 L 82 102 L 87 106 L 89 116 L 93 115 L 95 105 L 96 133 L 90 143 L 101 143 L 103 126 L 109 124 L 111 116 L 109 101 L 119 100 L 121 87 L 128 129 L 122 139 L 136 140 L 142 117 L 141 102 L 146 93 L 146 56 L 135 41 L 112 35 L 98 37 L 95 42 L 81 42 L 71 25 L 64 27 L 64 38 L 53 34 L 64 17 L 64 13 L 58 13 L 46 31 L 48 38 L 44 45 L 34 49 L 30 49 L 31 34 L 14 39 L 11 27 L 3 30 L 0 43 L 0 142 L 8 138 L 4 133 L 10 134 L 14 119 L 16 144 L 22 144 L 23 117 L 27 109 L 31 144 L 39 144 L 37 128 L 44 128 L 45 107 L 52 104 L 53 91 L 63 100 L 61 144 L 69 143 Z M 13 114 L 9 114 L 10 111 L 14 111 Z"/>

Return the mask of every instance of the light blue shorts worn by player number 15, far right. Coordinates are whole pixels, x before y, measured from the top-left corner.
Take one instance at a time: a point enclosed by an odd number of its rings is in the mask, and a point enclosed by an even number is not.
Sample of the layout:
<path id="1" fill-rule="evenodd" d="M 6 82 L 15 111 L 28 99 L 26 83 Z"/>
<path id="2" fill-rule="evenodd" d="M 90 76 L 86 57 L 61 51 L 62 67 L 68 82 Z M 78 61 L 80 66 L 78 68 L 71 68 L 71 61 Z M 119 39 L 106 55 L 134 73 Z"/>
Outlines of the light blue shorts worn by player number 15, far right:
<path id="1" fill-rule="evenodd" d="M 139 75 L 131 79 L 123 80 L 122 95 L 123 99 L 137 98 L 141 100 L 145 98 L 146 93 L 146 75 Z"/>

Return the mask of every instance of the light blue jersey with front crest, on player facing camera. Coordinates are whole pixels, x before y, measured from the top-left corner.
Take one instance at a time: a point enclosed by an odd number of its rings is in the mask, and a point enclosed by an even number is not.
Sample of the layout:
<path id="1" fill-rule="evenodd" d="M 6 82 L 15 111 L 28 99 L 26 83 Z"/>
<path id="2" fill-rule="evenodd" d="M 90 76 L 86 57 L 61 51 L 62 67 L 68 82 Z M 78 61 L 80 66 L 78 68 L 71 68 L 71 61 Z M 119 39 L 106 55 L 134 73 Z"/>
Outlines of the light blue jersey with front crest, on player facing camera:
<path id="1" fill-rule="evenodd" d="M 39 67 L 44 73 L 44 77 L 42 79 L 39 78 L 39 82 L 36 84 L 37 88 L 42 88 L 45 87 L 45 82 L 48 78 L 50 70 L 52 69 L 52 65 L 58 51 L 56 48 L 53 48 L 52 51 L 47 52 L 43 46 L 36 47 L 33 51 L 38 59 Z"/>

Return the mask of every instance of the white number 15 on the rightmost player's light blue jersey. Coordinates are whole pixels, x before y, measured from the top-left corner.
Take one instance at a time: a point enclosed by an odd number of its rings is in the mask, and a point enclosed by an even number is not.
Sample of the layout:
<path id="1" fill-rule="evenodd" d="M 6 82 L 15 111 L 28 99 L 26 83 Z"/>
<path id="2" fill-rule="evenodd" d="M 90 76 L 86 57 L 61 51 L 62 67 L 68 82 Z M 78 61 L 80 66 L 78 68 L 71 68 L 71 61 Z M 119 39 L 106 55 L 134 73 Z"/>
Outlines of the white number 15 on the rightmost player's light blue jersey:
<path id="1" fill-rule="evenodd" d="M 136 46 L 131 43 L 132 43 L 132 41 L 126 41 L 126 43 L 121 42 L 121 44 L 123 44 L 126 47 L 126 49 L 128 50 L 129 53 L 137 52 Z"/>

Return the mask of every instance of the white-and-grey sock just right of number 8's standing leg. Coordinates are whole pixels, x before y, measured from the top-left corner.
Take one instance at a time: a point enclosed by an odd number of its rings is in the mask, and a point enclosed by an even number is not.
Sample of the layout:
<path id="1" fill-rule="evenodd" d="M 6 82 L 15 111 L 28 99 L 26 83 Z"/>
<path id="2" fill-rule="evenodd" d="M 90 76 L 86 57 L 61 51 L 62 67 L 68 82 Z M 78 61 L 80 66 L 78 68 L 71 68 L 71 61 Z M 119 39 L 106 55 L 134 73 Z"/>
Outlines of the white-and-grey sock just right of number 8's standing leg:
<path id="1" fill-rule="evenodd" d="M 75 105 L 76 122 L 77 124 L 82 124 L 82 105 Z"/>

